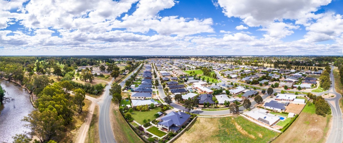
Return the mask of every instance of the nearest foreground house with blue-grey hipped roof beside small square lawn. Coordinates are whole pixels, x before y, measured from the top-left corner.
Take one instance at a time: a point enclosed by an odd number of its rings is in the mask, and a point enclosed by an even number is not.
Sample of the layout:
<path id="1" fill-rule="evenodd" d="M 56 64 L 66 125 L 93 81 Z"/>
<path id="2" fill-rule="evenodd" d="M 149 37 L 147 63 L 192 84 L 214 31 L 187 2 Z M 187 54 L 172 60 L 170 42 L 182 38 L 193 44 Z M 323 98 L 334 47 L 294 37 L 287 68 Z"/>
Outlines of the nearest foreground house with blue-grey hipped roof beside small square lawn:
<path id="1" fill-rule="evenodd" d="M 171 111 L 169 114 L 159 119 L 160 121 L 157 123 L 157 127 L 166 129 L 168 132 L 177 132 L 182 126 L 187 124 L 190 117 L 191 115 L 184 112 Z"/>

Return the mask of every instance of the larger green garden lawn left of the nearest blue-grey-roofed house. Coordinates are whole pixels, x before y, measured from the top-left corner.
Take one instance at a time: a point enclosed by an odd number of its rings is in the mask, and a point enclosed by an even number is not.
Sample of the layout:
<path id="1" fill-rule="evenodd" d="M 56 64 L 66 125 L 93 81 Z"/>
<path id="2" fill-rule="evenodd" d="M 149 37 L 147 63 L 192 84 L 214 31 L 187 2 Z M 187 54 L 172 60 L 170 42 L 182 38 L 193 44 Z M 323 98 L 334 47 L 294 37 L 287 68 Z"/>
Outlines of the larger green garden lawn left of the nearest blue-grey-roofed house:
<path id="1" fill-rule="evenodd" d="M 132 112 L 132 117 L 133 120 L 135 120 L 136 122 L 138 122 L 139 124 L 144 124 L 143 120 L 146 119 L 150 119 L 151 121 L 156 119 L 154 117 L 154 114 L 156 114 L 157 112 L 161 111 L 160 107 L 157 107 L 155 109 L 152 109 L 150 111 L 133 111 Z"/>

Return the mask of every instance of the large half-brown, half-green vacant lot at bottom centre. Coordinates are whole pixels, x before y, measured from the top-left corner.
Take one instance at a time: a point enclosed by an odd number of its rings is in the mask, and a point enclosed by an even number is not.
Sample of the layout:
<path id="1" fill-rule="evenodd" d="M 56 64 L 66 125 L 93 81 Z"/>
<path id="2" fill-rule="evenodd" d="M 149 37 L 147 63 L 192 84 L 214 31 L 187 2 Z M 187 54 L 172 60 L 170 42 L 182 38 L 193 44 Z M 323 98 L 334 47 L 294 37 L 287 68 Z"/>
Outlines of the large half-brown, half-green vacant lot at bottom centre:
<path id="1" fill-rule="evenodd" d="M 277 134 L 241 116 L 198 117 L 175 142 L 269 142 Z"/>

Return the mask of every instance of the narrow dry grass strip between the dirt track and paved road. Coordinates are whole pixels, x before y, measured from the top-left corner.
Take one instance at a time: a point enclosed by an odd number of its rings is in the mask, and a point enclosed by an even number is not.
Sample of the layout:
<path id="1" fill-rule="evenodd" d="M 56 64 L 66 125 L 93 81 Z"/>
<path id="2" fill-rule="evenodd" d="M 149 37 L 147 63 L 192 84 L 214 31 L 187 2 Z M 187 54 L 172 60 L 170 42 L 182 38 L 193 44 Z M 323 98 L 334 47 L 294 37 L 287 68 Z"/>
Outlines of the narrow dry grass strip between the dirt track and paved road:
<path id="1" fill-rule="evenodd" d="M 89 126 L 86 143 L 100 143 L 99 139 L 99 106 L 95 106 L 91 124 Z"/>

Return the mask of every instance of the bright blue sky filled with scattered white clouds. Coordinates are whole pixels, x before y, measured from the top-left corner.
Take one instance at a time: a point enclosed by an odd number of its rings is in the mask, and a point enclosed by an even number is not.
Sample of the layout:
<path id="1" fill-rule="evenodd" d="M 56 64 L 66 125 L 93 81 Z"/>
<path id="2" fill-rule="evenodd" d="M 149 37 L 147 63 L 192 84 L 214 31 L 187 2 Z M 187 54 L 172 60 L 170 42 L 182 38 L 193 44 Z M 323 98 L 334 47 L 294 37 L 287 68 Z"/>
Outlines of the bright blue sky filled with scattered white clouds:
<path id="1" fill-rule="evenodd" d="M 338 55 L 343 0 L 0 0 L 0 55 Z"/>

